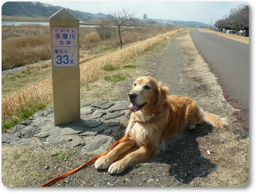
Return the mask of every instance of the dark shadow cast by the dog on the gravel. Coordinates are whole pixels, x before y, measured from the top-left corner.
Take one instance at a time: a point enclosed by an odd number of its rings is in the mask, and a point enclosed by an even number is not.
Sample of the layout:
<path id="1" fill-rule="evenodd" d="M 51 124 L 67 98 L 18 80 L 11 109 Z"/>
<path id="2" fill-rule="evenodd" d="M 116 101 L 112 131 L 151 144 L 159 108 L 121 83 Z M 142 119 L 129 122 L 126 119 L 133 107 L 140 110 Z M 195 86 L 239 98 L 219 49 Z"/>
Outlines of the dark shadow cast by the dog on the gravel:
<path id="1" fill-rule="evenodd" d="M 185 130 L 179 137 L 171 140 L 168 147 L 157 153 L 148 163 L 168 164 L 170 166 L 169 176 L 175 177 L 184 184 L 189 184 L 197 177 L 208 176 L 216 169 L 216 164 L 202 156 L 197 138 L 206 136 L 211 131 L 212 126 L 208 123 L 197 125 L 195 130 Z M 132 167 L 123 171 L 119 176 L 124 176 L 131 170 L 133 170 Z"/>

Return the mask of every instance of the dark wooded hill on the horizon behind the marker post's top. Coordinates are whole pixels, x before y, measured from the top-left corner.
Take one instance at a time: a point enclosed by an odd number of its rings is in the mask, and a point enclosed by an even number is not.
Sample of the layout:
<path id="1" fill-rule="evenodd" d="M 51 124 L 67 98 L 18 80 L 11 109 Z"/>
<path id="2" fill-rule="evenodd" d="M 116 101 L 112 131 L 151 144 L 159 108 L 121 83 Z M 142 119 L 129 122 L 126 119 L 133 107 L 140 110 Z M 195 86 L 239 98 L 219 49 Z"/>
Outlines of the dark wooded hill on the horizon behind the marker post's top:
<path id="1" fill-rule="evenodd" d="M 28 17 L 50 17 L 62 7 L 52 6 L 50 4 L 42 4 L 39 2 L 6 2 L 2 6 L 2 15 L 11 16 L 28 16 Z M 102 13 L 88 13 L 69 10 L 74 16 L 79 19 L 102 19 L 106 15 Z"/>

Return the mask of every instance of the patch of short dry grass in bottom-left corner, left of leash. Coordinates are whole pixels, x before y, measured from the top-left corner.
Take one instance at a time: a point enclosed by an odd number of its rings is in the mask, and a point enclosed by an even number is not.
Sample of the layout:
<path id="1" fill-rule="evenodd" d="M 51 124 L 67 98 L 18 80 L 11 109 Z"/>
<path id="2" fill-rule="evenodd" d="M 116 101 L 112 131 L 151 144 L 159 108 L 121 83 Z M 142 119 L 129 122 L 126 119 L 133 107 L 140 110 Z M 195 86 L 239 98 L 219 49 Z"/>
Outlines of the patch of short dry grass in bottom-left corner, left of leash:
<path id="1" fill-rule="evenodd" d="M 51 170 L 45 170 L 45 161 L 51 161 L 56 165 L 76 167 L 75 158 L 80 153 L 74 153 L 66 148 L 51 146 L 44 148 L 36 139 L 32 138 L 33 145 L 3 146 L 2 147 L 2 182 L 8 187 L 38 187 L 56 174 L 65 173 L 68 169 L 61 167 L 56 169 L 52 166 Z M 52 157 L 56 152 L 58 155 Z M 77 155 L 78 154 L 78 155 Z M 64 159 L 68 159 L 65 161 Z M 76 162 L 74 162 L 76 161 Z M 50 163 L 50 165 L 51 165 Z"/>

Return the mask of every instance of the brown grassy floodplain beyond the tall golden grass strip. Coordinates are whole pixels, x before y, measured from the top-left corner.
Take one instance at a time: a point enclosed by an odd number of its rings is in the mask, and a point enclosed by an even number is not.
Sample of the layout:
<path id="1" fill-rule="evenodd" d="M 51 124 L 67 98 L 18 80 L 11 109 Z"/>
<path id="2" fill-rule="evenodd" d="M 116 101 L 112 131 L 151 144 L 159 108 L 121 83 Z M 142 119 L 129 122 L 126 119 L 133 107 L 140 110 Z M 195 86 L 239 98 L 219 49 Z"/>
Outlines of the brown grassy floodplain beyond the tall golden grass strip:
<path id="1" fill-rule="evenodd" d="M 148 27 L 142 35 L 125 32 L 124 45 L 174 30 L 173 27 Z M 102 40 L 95 28 L 79 28 L 80 57 L 118 49 L 119 38 Z M 51 58 L 50 27 L 41 25 L 2 26 L 2 71 Z"/>

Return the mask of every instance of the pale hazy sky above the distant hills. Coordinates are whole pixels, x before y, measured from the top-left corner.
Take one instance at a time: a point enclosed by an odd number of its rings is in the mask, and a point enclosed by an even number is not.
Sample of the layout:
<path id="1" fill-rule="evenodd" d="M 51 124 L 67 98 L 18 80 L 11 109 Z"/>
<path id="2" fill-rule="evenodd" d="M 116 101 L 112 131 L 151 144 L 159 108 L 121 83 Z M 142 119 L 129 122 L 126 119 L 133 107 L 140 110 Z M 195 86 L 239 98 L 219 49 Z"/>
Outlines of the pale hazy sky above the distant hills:
<path id="1" fill-rule="evenodd" d="M 108 14 L 121 11 L 123 8 L 135 11 L 136 17 L 143 18 L 146 13 L 148 18 L 173 19 L 184 21 L 200 21 L 212 24 L 230 14 L 231 8 L 236 8 L 241 1 L 44 1 L 53 6 L 61 6 L 73 10 L 90 13 Z"/>

